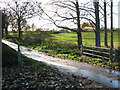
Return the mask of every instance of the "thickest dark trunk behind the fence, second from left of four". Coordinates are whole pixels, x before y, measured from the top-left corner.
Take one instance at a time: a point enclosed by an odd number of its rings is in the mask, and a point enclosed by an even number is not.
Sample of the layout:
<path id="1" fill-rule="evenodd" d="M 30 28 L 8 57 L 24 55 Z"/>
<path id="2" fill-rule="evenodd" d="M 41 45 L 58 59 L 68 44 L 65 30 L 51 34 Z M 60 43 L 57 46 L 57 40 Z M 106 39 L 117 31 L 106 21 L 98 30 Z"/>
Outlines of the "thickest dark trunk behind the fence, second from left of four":
<path id="1" fill-rule="evenodd" d="M 100 47 L 100 20 L 99 20 L 99 1 L 95 4 L 95 19 L 96 19 L 96 46 Z"/>

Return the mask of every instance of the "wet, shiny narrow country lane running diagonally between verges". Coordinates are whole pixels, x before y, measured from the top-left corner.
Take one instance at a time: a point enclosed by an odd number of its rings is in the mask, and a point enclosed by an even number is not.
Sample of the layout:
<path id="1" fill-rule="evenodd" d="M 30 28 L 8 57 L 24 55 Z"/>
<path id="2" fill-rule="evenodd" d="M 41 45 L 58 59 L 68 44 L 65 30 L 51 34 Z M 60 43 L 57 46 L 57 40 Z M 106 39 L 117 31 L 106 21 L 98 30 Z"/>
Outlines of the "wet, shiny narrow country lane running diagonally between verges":
<path id="1" fill-rule="evenodd" d="M 5 44 L 17 50 L 17 45 L 11 42 L 2 40 Z M 59 71 L 71 73 L 77 76 L 88 77 L 88 79 L 102 83 L 109 88 L 120 88 L 120 72 L 109 70 L 103 67 L 96 67 L 83 63 L 78 63 L 71 60 L 64 60 L 53 58 L 51 56 L 43 55 L 35 51 L 30 51 L 28 48 L 21 46 L 21 52 L 25 56 L 44 62 L 50 66 L 56 67 Z M 69 64 L 69 65 L 67 65 Z M 119 77 L 118 77 L 119 76 Z M 119 80 L 117 80 L 119 78 Z"/>

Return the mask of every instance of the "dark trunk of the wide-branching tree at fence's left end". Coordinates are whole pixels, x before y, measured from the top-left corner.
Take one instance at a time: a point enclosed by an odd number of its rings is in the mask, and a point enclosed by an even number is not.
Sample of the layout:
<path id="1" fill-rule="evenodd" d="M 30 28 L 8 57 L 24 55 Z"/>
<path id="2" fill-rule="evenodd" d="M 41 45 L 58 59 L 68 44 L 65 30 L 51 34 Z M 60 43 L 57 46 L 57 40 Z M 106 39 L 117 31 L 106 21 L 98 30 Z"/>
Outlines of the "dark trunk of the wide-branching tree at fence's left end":
<path id="1" fill-rule="evenodd" d="M 76 0 L 76 10 L 77 10 L 77 36 L 78 36 L 78 49 L 82 45 L 82 35 L 81 35 L 81 28 L 80 28 L 80 11 L 79 11 L 79 4 L 78 0 Z"/>

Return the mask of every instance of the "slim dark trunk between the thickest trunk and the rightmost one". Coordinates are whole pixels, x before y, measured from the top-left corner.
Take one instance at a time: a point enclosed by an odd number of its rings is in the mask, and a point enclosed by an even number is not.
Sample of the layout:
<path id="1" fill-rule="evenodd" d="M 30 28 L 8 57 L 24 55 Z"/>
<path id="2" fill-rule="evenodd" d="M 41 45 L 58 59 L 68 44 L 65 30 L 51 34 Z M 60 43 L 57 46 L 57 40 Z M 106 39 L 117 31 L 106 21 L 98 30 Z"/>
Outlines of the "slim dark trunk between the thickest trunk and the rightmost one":
<path id="1" fill-rule="evenodd" d="M 107 15 L 106 15 L 106 0 L 104 0 L 104 26 L 105 26 L 105 37 L 104 37 L 104 45 L 107 47 Z"/>

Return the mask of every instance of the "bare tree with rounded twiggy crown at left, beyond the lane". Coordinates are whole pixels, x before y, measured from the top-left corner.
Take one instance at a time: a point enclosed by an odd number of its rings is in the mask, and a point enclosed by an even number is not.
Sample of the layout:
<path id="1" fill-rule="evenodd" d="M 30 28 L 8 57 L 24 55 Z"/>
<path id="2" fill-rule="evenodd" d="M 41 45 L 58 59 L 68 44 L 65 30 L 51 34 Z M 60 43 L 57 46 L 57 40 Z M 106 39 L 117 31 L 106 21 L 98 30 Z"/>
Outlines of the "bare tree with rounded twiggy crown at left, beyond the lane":
<path id="1" fill-rule="evenodd" d="M 8 7 L 12 10 L 13 20 L 17 23 L 19 32 L 19 39 L 21 38 L 21 24 L 26 19 L 32 18 L 34 15 L 34 5 L 31 2 L 13 1 L 13 4 L 7 3 Z"/>

